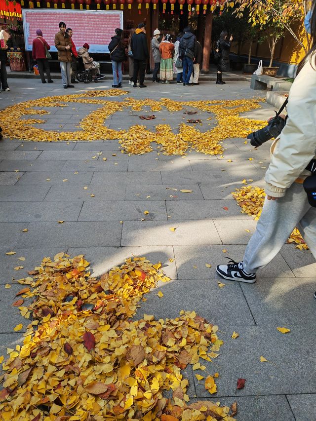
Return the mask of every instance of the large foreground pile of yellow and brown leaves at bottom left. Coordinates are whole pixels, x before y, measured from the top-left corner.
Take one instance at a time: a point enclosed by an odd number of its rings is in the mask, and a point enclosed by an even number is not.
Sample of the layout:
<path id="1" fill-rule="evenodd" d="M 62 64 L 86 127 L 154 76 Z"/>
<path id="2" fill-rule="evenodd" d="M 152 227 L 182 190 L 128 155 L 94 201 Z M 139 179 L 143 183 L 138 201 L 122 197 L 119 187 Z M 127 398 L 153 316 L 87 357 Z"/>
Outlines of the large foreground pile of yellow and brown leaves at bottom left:
<path id="1" fill-rule="evenodd" d="M 229 407 L 188 405 L 188 380 L 181 374 L 199 357 L 218 356 L 223 342 L 217 326 L 195 311 L 173 320 L 131 319 L 143 294 L 170 280 L 160 266 L 127 259 L 94 278 L 82 255 L 44 258 L 28 277 L 33 289 L 24 288 L 23 298 L 33 303 L 19 307 L 33 322 L 23 346 L 8 349 L 3 363 L 2 419 L 234 421 Z M 211 375 L 208 383 L 214 393 Z M 170 389 L 166 399 L 162 392 Z"/>

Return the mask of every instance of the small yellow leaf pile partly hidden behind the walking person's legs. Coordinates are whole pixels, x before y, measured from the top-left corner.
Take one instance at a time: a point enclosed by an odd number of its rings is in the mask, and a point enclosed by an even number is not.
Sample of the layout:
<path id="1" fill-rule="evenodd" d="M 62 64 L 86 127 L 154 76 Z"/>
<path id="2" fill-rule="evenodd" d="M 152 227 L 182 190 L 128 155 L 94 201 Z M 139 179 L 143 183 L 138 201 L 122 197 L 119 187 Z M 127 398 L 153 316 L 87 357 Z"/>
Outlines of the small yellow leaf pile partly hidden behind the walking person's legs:
<path id="1" fill-rule="evenodd" d="M 236 189 L 232 192 L 234 199 L 241 207 L 241 213 L 253 216 L 256 221 L 259 220 L 262 206 L 265 201 L 266 193 L 264 189 L 255 186 L 245 186 L 241 189 Z M 250 231 L 249 231 L 250 232 Z M 304 238 L 301 236 L 300 231 L 295 228 L 287 240 L 288 243 L 297 244 L 300 250 L 308 250 L 309 247 L 305 243 Z"/>

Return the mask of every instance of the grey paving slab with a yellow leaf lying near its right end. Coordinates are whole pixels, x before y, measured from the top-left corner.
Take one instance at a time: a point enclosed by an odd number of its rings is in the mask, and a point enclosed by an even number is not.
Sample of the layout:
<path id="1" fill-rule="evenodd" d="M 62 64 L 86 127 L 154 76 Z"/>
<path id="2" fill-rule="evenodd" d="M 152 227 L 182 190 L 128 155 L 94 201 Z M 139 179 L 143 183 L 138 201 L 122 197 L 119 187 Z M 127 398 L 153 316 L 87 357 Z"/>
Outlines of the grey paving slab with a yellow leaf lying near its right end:
<path id="1" fill-rule="evenodd" d="M 177 189 L 177 191 L 172 190 Z M 184 193 L 180 190 L 192 190 L 191 193 Z M 150 196 L 150 197 L 148 197 Z M 181 185 L 168 188 L 165 185 L 133 185 L 126 189 L 125 200 L 181 200 L 181 201 L 195 201 L 195 199 L 202 199 L 202 193 L 197 185 Z M 182 219 L 182 218 L 179 218 Z"/>

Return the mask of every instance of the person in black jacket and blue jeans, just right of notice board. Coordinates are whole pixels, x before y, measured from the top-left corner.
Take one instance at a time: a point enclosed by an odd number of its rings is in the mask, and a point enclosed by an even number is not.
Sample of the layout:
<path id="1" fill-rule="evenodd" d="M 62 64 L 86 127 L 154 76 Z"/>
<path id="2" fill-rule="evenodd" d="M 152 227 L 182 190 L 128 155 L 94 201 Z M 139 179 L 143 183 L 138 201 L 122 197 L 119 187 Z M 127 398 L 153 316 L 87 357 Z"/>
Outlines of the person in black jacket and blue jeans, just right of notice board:
<path id="1" fill-rule="evenodd" d="M 123 43 L 123 30 L 117 28 L 115 36 L 109 44 L 110 57 L 112 60 L 113 88 L 122 87 L 122 62 L 126 60 L 125 46 Z"/>

